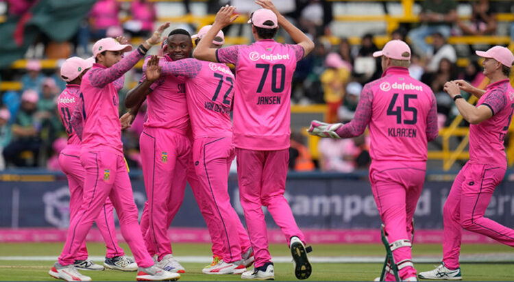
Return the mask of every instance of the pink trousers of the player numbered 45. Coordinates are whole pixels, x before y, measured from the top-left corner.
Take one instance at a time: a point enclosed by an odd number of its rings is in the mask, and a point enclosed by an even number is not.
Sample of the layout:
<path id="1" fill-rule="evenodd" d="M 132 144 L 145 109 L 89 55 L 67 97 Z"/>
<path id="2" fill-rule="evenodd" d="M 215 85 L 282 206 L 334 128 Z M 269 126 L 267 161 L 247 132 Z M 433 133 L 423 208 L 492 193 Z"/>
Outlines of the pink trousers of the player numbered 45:
<path id="1" fill-rule="evenodd" d="M 411 241 L 411 222 L 423 189 L 425 172 L 426 162 L 371 162 L 369 181 L 389 244 L 397 240 Z M 402 261 L 412 261 L 411 248 L 397 248 L 393 257 L 399 266 Z M 404 280 L 416 277 L 416 270 L 405 266 L 399 274 Z M 388 274 L 386 281 L 395 281 L 395 278 Z"/>

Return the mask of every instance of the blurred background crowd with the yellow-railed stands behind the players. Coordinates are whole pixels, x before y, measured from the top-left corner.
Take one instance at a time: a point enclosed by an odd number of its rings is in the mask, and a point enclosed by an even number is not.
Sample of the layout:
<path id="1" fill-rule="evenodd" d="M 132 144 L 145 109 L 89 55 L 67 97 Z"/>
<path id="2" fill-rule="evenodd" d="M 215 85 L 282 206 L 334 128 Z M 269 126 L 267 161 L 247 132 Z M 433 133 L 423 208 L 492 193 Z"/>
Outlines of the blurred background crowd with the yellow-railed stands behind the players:
<path id="1" fill-rule="evenodd" d="M 27 15 L 31 16 L 32 9 L 35 5 L 40 5 L 39 2 L 3 1 L 0 2 L 0 13 L 3 13 L 4 18 L 16 18 L 19 27 L 20 23 L 28 21 Z M 186 18 L 198 13 L 206 16 L 215 14 L 225 3 L 236 5 L 238 13 L 242 15 L 247 15 L 256 8 L 252 0 L 89 2 L 94 3 L 88 8 L 89 12 L 78 21 L 73 36 L 68 40 L 56 41 L 48 33 L 38 32 L 23 52 L 23 58 L 19 58 L 23 59 L 22 66 L 14 67 L 14 63 L 1 68 L 0 80 L 3 87 L 0 89 L 0 149 L 3 153 L 0 155 L 0 169 L 21 166 L 60 169 L 57 156 L 66 145 L 66 133 L 56 112 L 56 101 L 65 87 L 59 72 L 66 57 L 89 57 L 95 40 L 106 36 L 125 35 L 132 38 L 133 44 L 138 44 L 141 38 L 149 36 L 154 25 L 165 18 L 162 16 L 163 10 L 173 10 L 175 18 Z M 385 29 L 358 27 L 362 21 L 353 26 L 345 26 L 344 21 L 336 21 L 336 16 L 366 13 L 362 11 L 366 6 L 358 12 L 358 9 L 352 8 L 354 6 L 351 1 L 274 2 L 283 14 L 315 41 L 315 50 L 297 64 L 291 101 L 298 107 L 323 105 L 323 118 L 328 123 L 346 123 L 353 118 L 363 85 L 382 75 L 380 58 L 376 59 L 371 54 L 393 38 L 406 40 L 411 45 L 411 76 L 432 88 L 437 98 L 439 125 L 448 126 L 458 112 L 450 97 L 442 92 L 443 84 L 452 79 L 465 79 L 474 86 L 482 86 L 485 77 L 473 51 L 487 49 L 494 42 L 480 41 L 480 38 L 514 37 L 514 23 L 499 23 L 497 16 L 500 12 L 512 13 L 514 4 L 511 1 L 415 2 L 415 20 L 399 23 L 394 29 L 389 25 Z M 407 5 L 405 1 L 397 2 L 400 1 L 377 1 L 373 8 L 378 6 L 382 9 L 382 14 L 387 16 L 393 10 L 398 10 L 398 4 L 400 9 Z M 186 18 L 183 23 L 175 23 L 173 28 L 176 27 L 195 34 L 201 25 Z M 358 32 L 353 29 L 358 29 Z M 238 43 L 241 38 L 245 38 L 243 43 L 253 40 L 247 25 L 232 25 L 224 31 L 227 36 L 234 38 L 230 42 L 229 37 L 226 40 L 228 44 Z M 450 38 L 458 36 L 472 36 L 478 40 L 450 42 Z M 291 42 L 291 38 L 283 32 L 279 32 L 276 39 L 280 42 Z M 0 53 L 0 57 L 2 55 Z M 127 75 L 125 88 L 120 93 L 122 100 L 126 91 L 135 86 L 140 75 L 140 66 Z M 16 81 L 19 87 L 10 86 L 12 81 Z M 121 108 L 120 113 L 124 112 L 126 109 Z M 140 166 L 138 138 L 143 130 L 144 116 L 145 108 L 142 107 L 132 127 L 123 132 L 125 154 L 131 167 Z M 303 126 L 307 125 L 306 123 Z M 293 125 L 291 170 L 352 172 L 367 169 L 370 157 L 366 137 L 350 140 L 323 139 L 317 143 L 316 156 L 313 158 L 313 150 L 306 143 L 307 137 L 302 130 L 304 129 L 301 126 Z"/>

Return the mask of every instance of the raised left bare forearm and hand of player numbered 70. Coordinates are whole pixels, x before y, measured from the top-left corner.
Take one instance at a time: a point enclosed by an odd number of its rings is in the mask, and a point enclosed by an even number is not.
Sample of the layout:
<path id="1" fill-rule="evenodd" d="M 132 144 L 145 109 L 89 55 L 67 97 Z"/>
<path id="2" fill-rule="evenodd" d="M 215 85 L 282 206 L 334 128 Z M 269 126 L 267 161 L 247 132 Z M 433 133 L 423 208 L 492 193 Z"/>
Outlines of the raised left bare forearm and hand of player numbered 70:
<path id="1" fill-rule="evenodd" d="M 209 62 L 218 62 L 216 58 L 216 48 L 210 48 L 210 44 L 212 40 L 216 37 L 216 34 L 226 27 L 230 25 L 232 22 L 236 20 L 238 15 L 232 16 L 236 8 L 234 6 L 225 5 L 219 9 L 216 14 L 215 22 L 212 23 L 212 27 L 210 27 L 207 34 L 200 40 L 198 46 L 193 52 L 193 57 L 202 61 Z"/>

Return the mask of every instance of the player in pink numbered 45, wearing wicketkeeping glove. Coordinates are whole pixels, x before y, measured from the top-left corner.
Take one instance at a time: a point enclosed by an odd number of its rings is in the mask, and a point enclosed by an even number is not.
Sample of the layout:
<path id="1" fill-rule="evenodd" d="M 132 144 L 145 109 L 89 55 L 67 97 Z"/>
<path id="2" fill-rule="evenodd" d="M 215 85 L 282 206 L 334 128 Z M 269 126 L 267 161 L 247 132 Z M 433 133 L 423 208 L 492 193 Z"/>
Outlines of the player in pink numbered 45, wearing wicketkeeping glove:
<path id="1" fill-rule="evenodd" d="M 408 74 L 411 49 L 391 40 L 377 51 L 384 73 L 360 93 L 355 118 L 345 125 L 316 120 L 308 132 L 330 138 L 360 136 L 369 125 L 369 181 L 402 281 L 417 281 L 411 224 L 423 188 L 427 142 L 437 137 L 437 105 L 426 84 Z M 387 272 L 386 281 L 396 281 Z"/>

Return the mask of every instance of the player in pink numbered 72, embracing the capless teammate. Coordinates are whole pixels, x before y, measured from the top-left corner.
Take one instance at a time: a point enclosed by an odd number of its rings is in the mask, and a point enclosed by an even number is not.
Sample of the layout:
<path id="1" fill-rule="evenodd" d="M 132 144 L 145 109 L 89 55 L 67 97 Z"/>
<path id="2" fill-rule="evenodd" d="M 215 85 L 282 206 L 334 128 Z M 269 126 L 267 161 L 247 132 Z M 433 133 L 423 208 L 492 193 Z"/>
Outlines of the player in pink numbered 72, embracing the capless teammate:
<path id="1" fill-rule="evenodd" d="M 199 42 L 210 27 L 202 27 L 193 38 Z M 219 48 L 223 42 L 223 31 L 219 31 L 211 46 Z M 223 260 L 202 272 L 241 274 L 246 270 L 245 260 L 249 259 L 241 254 L 250 255 L 251 247 L 228 194 L 228 173 L 235 155 L 230 120 L 234 75 L 225 64 L 196 59 L 161 61 L 160 65 L 162 75 L 180 75 L 186 79 L 187 106 L 194 138 L 193 161 L 202 184 L 201 199 L 197 200 L 210 205 L 220 221 L 221 229 L 217 232 L 221 233 L 224 242 Z"/>

